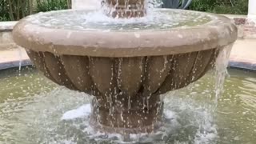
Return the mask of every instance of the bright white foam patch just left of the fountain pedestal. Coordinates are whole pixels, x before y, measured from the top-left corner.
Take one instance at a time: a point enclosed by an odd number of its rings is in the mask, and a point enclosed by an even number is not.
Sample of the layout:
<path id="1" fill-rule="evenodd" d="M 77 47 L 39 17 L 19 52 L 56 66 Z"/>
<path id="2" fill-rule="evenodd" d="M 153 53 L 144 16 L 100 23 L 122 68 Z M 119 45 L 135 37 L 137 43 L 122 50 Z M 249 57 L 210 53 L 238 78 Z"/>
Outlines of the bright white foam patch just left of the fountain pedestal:
<path id="1" fill-rule="evenodd" d="M 62 120 L 70 120 L 74 118 L 88 117 L 90 115 L 90 104 L 78 107 L 78 109 L 67 111 L 62 115 Z"/>

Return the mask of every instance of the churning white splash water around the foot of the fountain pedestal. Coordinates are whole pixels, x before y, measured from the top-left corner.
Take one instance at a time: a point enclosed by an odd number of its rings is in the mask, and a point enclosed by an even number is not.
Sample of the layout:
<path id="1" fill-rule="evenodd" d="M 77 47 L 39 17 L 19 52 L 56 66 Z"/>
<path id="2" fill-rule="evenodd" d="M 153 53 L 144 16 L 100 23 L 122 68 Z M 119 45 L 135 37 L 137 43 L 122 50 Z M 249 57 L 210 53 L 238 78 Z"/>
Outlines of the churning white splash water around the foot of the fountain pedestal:
<path id="1" fill-rule="evenodd" d="M 170 97 L 170 95 L 169 95 Z M 187 141 L 194 143 L 214 142 L 217 138 L 217 129 L 213 124 L 213 118 L 205 107 L 196 106 L 194 102 L 186 101 L 182 98 L 166 98 L 166 109 L 164 111 L 164 124 L 158 131 L 152 134 L 130 134 L 129 142 L 124 141 L 121 134 L 105 134 L 94 131 L 89 125 L 90 104 L 78 107 L 75 110 L 69 110 L 62 115 L 62 121 L 70 123 L 81 129 L 82 133 L 88 134 L 86 137 L 94 139 L 96 142 L 114 142 L 114 143 L 152 143 L 164 142 L 169 139 L 171 142 L 178 143 L 182 130 L 193 130 L 194 135 Z M 190 103 L 190 104 L 189 104 Z M 87 108 L 86 108 L 87 107 Z M 184 118 L 189 118 L 184 121 Z M 82 123 L 78 125 L 78 121 Z M 80 128 L 79 128 L 80 127 Z M 69 141 L 70 142 L 70 141 Z"/>

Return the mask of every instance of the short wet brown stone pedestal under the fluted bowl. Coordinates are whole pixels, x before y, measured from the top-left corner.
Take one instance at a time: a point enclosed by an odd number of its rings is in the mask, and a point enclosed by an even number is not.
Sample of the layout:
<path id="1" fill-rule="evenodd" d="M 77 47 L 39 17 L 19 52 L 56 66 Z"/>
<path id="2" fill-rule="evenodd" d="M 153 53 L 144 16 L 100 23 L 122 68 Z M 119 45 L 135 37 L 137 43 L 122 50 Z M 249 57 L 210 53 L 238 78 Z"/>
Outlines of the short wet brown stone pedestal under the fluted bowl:
<path id="1" fill-rule="evenodd" d="M 163 102 L 150 103 L 150 106 L 134 105 L 137 102 L 128 104 L 126 101 L 118 105 L 115 103 L 115 106 L 110 106 L 106 102 L 104 106 L 94 98 L 90 126 L 104 133 L 122 135 L 151 133 L 158 130 L 162 122 Z M 130 107 L 126 107 L 125 103 Z"/>

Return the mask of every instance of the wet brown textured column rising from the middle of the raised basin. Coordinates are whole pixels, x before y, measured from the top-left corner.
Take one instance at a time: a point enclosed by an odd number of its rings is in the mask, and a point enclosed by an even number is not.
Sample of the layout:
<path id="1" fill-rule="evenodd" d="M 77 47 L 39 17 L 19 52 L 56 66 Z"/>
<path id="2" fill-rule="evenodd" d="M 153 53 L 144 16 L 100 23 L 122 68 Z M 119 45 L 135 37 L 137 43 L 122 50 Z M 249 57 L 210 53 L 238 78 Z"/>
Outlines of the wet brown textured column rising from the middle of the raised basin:
<path id="1" fill-rule="evenodd" d="M 143 17 L 146 14 L 144 0 L 103 0 L 110 8 L 108 14 L 113 18 Z"/>

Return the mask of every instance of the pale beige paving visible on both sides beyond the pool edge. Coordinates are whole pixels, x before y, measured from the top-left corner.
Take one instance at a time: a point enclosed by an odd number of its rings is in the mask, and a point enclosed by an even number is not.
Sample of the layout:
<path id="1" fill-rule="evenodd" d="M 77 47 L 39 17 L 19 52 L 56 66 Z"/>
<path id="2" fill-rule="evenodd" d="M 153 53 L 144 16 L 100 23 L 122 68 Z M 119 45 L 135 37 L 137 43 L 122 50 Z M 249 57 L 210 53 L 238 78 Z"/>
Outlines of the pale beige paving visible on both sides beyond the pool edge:
<path id="1" fill-rule="evenodd" d="M 0 50 L 0 70 L 31 65 L 24 49 Z M 256 39 L 239 39 L 234 43 L 230 54 L 230 66 L 248 70 L 256 70 Z"/>

